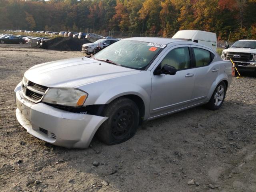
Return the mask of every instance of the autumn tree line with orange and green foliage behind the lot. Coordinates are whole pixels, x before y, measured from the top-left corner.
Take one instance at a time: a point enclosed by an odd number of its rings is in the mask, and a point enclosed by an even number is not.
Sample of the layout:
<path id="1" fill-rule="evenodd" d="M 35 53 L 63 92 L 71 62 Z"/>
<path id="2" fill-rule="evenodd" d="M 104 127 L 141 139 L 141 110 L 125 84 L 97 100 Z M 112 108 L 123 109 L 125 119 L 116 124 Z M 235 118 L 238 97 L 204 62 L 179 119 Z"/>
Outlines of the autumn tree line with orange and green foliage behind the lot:
<path id="1" fill-rule="evenodd" d="M 215 32 L 219 40 L 256 39 L 256 0 L 0 0 L 0 28 L 86 32 Z"/>

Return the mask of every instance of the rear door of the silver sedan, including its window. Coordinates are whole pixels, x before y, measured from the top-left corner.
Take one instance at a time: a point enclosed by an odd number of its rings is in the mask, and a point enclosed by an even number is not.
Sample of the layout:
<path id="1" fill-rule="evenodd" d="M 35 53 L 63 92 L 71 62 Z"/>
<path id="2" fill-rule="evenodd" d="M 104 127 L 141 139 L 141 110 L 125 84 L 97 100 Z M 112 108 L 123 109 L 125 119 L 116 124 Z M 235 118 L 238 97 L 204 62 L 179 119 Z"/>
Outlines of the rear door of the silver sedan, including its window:
<path id="1" fill-rule="evenodd" d="M 201 46 L 192 47 L 195 69 L 195 86 L 192 93 L 192 104 L 207 101 L 208 93 L 219 74 L 219 64 L 213 62 L 215 54 Z"/>

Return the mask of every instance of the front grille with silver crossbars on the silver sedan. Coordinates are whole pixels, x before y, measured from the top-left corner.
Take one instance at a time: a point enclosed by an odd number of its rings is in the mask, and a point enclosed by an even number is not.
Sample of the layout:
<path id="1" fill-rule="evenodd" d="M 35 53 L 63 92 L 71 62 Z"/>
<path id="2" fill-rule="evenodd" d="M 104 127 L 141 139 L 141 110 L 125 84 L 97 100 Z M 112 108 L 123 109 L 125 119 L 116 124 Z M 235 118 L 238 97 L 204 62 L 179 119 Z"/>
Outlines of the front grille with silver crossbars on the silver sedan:
<path id="1" fill-rule="evenodd" d="M 47 89 L 48 87 L 36 84 L 31 81 L 23 81 L 22 83 L 22 90 L 24 96 L 26 96 L 28 100 L 35 103 L 39 102 L 42 99 Z"/>

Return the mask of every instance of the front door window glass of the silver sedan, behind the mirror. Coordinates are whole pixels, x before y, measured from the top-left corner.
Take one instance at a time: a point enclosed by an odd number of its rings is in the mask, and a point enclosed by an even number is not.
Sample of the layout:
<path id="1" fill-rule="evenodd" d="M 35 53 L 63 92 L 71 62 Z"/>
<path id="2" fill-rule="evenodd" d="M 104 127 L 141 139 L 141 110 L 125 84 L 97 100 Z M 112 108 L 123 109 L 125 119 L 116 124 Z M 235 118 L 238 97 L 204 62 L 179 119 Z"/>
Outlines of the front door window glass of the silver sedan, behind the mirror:
<path id="1" fill-rule="evenodd" d="M 161 68 L 170 65 L 177 70 L 190 68 L 190 55 L 188 47 L 179 47 L 171 50 L 161 62 Z"/>

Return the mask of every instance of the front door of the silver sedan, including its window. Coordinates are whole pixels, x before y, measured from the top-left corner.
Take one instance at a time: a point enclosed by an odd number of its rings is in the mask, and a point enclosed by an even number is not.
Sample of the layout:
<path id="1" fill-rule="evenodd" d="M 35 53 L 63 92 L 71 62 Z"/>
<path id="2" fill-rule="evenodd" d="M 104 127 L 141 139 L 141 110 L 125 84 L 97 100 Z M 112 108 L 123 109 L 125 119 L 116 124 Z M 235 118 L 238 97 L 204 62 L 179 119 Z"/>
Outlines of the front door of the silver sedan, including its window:
<path id="1" fill-rule="evenodd" d="M 178 70 L 176 74 L 154 75 L 154 70 L 152 70 L 150 118 L 188 106 L 195 80 L 195 69 L 191 68 L 192 57 L 190 55 L 189 45 L 172 47 L 162 56 L 158 68 L 168 64 Z"/>

